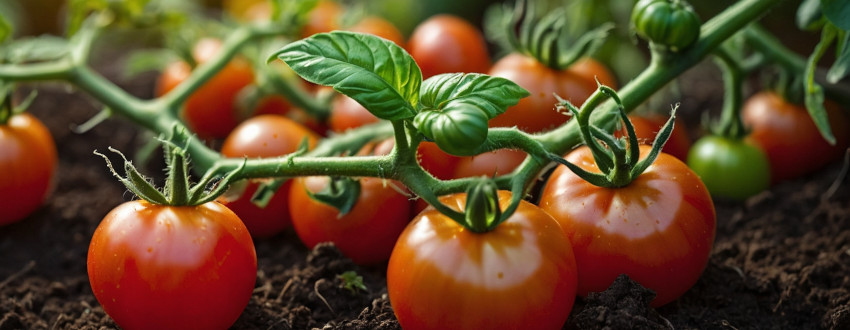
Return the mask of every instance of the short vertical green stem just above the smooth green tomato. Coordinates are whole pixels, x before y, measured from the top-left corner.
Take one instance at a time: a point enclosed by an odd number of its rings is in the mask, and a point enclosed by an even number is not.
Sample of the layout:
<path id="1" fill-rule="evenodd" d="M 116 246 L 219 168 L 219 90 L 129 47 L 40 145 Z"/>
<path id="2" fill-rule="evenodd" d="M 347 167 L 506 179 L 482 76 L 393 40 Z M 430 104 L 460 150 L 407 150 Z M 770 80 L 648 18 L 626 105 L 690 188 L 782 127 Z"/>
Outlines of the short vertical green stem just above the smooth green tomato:
<path id="1" fill-rule="evenodd" d="M 738 67 L 739 61 L 723 47 L 718 47 L 715 54 L 717 64 L 723 72 L 723 110 L 714 133 L 731 139 L 741 139 L 746 135 L 744 122 L 741 120 L 743 72 Z"/>

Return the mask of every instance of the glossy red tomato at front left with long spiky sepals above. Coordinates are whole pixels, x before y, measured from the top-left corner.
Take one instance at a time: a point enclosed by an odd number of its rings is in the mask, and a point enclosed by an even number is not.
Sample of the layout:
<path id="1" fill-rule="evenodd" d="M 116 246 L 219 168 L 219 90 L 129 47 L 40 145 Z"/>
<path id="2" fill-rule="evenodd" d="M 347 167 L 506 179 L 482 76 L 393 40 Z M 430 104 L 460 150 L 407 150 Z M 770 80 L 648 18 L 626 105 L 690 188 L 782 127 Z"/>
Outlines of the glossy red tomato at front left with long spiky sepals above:
<path id="1" fill-rule="evenodd" d="M 227 207 L 119 205 L 88 252 L 92 291 L 124 329 L 225 329 L 248 305 L 257 255 Z"/>

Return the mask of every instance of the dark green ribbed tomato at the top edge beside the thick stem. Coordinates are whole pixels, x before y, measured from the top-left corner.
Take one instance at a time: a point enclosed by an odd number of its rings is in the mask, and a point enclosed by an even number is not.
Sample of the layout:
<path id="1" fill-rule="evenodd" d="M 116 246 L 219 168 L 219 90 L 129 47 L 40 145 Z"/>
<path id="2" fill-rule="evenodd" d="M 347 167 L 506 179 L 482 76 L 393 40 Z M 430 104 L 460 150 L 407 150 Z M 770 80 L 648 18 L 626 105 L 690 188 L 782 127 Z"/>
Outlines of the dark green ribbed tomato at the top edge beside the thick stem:
<path id="1" fill-rule="evenodd" d="M 640 0 L 632 10 L 632 26 L 642 38 L 678 51 L 699 38 L 702 25 L 685 1 Z"/>

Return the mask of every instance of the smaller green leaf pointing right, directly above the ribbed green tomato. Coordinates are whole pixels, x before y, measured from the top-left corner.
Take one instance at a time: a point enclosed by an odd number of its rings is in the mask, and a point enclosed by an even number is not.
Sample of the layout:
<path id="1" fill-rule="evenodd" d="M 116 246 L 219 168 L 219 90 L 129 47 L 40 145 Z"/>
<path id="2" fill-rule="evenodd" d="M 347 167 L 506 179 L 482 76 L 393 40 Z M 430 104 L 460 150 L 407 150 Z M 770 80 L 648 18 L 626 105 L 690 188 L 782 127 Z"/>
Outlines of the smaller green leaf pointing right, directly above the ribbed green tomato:
<path id="1" fill-rule="evenodd" d="M 420 103 L 425 110 L 472 105 L 492 119 L 528 95 L 527 90 L 505 78 L 479 73 L 445 73 L 422 83 Z"/>

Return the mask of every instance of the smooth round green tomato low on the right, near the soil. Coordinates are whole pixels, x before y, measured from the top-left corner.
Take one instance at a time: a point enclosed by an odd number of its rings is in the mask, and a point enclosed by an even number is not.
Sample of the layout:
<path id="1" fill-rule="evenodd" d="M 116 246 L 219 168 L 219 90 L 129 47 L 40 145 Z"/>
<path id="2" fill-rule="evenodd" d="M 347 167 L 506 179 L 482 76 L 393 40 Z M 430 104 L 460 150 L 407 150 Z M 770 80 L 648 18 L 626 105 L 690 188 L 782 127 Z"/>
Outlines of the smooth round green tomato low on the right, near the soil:
<path id="1" fill-rule="evenodd" d="M 691 147 L 688 166 L 716 197 L 743 200 L 770 185 L 767 156 L 745 140 L 703 137 Z"/>

